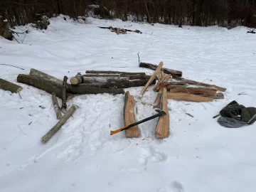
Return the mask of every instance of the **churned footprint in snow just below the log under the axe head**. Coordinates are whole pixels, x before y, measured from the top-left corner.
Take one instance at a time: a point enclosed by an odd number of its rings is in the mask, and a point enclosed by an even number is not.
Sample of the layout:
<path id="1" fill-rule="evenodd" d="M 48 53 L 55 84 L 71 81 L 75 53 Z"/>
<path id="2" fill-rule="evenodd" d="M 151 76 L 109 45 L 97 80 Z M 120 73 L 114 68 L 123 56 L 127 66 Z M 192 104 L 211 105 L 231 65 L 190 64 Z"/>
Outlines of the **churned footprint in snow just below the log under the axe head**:
<path id="1" fill-rule="evenodd" d="M 142 148 L 142 152 L 139 156 L 139 163 L 146 165 L 149 161 L 151 162 L 162 162 L 166 161 L 167 156 L 164 152 L 159 149 L 154 149 L 151 146 Z"/>

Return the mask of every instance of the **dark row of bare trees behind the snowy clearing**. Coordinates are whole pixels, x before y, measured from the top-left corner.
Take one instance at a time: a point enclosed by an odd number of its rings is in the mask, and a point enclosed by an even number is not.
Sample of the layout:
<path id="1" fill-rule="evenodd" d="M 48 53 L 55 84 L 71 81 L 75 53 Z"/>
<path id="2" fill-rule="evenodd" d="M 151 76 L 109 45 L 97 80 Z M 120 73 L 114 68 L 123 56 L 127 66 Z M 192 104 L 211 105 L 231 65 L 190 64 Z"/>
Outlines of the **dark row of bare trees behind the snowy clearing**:
<path id="1" fill-rule="evenodd" d="M 24 25 L 36 14 L 85 16 L 91 4 L 98 5 L 101 18 L 114 13 L 122 21 L 256 27 L 256 0 L 1 0 L 0 16 L 11 26 Z"/>

